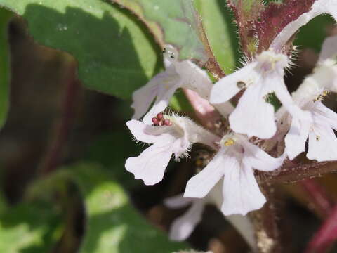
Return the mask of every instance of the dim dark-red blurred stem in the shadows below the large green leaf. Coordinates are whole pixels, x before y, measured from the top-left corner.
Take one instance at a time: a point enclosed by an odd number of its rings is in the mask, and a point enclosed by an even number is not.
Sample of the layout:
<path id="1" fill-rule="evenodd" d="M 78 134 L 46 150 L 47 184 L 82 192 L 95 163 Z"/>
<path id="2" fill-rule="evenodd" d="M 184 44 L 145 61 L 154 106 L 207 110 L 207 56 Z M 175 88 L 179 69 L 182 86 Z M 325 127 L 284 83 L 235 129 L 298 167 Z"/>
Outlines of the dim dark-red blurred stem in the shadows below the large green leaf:
<path id="1" fill-rule="evenodd" d="M 41 164 L 41 174 L 48 174 L 58 167 L 62 157 L 62 149 L 67 142 L 72 122 L 74 120 L 80 82 L 77 79 L 77 66 L 74 60 L 70 61 L 69 72 L 66 75 L 64 97 L 62 100 L 62 112 L 60 119 L 55 123 L 53 139 Z"/>

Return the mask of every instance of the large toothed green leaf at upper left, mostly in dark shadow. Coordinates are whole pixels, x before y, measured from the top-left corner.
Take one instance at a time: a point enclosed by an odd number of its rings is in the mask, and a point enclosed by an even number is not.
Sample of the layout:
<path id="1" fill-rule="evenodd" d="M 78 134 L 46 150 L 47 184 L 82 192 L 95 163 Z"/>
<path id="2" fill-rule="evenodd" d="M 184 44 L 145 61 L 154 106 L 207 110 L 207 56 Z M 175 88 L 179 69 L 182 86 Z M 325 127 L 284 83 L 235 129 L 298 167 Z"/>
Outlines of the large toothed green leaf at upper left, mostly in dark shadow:
<path id="1" fill-rule="evenodd" d="M 79 78 L 90 89 L 130 98 L 161 67 L 159 48 L 143 24 L 117 5 L 99 0 L 0 0 L 0 6 L 25 18 L 39 44 L 72 54 L 79 63 Z"/>

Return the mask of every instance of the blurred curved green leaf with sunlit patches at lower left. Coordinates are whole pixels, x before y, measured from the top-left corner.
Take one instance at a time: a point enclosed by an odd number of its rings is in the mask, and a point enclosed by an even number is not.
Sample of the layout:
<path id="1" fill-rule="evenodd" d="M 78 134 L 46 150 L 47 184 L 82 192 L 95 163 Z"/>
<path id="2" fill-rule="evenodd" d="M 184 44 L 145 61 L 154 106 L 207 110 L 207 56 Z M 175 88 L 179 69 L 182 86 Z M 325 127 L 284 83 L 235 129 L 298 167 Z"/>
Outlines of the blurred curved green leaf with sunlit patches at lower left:
<path id="1" fill-rule="evenodd" d="M 80 253 L 167 253 L 186 248 L 170 242 L 136 212 L 119 183 L 98 164 L 81 163 L 51 175 L 73 181 L 84 197 L 86 233 Z"/>

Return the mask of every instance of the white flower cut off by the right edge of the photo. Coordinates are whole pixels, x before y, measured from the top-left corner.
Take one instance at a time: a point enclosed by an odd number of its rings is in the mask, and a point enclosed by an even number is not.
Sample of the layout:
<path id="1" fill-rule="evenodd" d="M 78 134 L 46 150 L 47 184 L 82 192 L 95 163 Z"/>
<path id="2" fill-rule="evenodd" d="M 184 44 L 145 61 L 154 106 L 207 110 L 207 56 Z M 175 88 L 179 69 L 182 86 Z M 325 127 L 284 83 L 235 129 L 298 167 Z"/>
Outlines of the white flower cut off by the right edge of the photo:
<path id="1" fill-rule="evenodd" d="M 337 114 L 321 102 L 329 91 L 337 91 L 337 37 L 326 39 L 314 72 L 293 92 L 293 100 L 300 108 L 310 112 L 311 120 L 298 119 L 284 114 L 283 121 L 290 124 L 285 138 L 286 153 L 292 160 L 305 151 L 309 137 L 307 157 L 311 160 L 337 160 Z M 331 58 L 329 58 L 329 56 Z"/>

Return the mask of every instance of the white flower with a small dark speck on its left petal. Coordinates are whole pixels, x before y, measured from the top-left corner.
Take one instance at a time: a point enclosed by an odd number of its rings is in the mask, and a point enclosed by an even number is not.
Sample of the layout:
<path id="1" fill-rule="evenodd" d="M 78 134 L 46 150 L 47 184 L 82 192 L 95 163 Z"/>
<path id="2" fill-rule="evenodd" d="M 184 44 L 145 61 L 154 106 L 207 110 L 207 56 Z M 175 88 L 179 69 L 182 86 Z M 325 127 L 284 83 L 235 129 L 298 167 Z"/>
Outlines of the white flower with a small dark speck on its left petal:
<path id="1" fill-rule="evenodd" d="M 287 56 L 264 51 L 241 70 L 223 77 L 211 91 L 211 103 L 225 103 L 246 88 L 234 112 L 230 126 L 239 134 L 249 137 L 271 138 L 276 132 L 274 107 L 267 103 L 267 96 L 275 93 L 291 114 L 303 112 L 293 103 L 284 84 L 284 68 L 289 65 Z"/>

